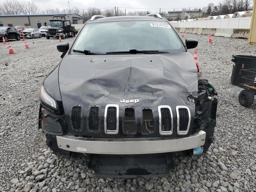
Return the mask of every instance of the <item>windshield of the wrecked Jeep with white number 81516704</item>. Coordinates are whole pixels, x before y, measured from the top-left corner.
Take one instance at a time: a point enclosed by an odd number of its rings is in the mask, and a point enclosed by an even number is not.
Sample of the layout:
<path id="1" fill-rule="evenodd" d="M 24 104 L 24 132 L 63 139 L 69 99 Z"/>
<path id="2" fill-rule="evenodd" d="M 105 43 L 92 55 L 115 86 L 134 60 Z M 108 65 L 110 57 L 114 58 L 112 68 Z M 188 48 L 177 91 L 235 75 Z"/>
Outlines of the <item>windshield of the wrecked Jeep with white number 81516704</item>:
<path id="1" fill-rule="evenodd" d="M 84 26 L 74 50 L 106 53 L 129 50 L 185 51 L 168 22 L 122 21 Z"/>

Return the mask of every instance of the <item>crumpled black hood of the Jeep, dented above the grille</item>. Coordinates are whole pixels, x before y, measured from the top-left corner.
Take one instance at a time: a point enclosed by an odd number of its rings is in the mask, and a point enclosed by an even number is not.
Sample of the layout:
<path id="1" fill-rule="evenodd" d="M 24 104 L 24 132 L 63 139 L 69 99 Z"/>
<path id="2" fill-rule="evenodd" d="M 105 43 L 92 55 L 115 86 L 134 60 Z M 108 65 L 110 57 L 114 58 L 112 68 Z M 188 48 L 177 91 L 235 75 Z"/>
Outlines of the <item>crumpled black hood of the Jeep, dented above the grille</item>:
<path id="1" fill-rule="evenodd" d="M 194 103 L 188 94 L 197 96 L 198 77 L 193 56 L 176 54 L 67 55 L 59 68 L 59 86 L 65 114 L 81 104 L 107 104 L 144 107 L 157 110 L 159 105 L 185 105 L 194 115 Z M 138 103 L 120 100 L 139 99 Z"/>

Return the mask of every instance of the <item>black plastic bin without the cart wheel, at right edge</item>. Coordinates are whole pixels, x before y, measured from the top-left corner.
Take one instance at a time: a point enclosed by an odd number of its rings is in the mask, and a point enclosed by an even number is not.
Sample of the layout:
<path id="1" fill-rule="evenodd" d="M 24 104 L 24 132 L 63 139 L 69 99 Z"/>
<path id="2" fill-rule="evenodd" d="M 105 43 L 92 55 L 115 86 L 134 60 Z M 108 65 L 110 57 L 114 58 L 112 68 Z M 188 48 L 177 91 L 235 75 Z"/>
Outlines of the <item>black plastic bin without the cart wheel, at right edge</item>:
<path id="1" fill-rule="evenodd" d="M 240 78 L 241 69 L 256 69 L 256 56 L 248 56 L 248 55 L 236 55 L 232 62 L 234 62 L 232 76 L 231 76 L 231 84 L 239 85 L 244 83 L 251 83 L 254 80 L 254 77 L 249 77 L 248 79 Z M 243 71 L 245 73 L 245 71 Z M 247 76 L 255 76 L 254 72 L 246 72 Z"/>

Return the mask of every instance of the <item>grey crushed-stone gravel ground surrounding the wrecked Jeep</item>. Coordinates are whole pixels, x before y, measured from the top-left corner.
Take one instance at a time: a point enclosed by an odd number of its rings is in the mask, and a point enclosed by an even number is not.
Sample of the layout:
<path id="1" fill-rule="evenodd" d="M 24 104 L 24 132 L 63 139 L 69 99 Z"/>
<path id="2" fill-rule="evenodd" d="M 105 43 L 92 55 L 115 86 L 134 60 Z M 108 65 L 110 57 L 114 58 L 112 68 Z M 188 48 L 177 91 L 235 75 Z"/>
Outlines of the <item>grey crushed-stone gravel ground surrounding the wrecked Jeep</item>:
<path id="1" fill-rule="evenodd" d="M 247 40 L 185 34 L 199 40 L 203 76 L 219 95 L 216 140 L 207 154 L 181 157 L 164 178 L 96 178 L 86 160 L 55 156 L 38 131 L 38 93 L 45 76 L 58 64 L 57 39 L 11 41 L 16 52 L 0 45 L 0 191 L 256 191 L 256 105 L 240 106 L 240 88 L 230 84 L 232 54 L 255 55 Z M 72 42 L 72 38 L 65 42 Z M 190 52 L 193 52 L 191 50 Z"/>

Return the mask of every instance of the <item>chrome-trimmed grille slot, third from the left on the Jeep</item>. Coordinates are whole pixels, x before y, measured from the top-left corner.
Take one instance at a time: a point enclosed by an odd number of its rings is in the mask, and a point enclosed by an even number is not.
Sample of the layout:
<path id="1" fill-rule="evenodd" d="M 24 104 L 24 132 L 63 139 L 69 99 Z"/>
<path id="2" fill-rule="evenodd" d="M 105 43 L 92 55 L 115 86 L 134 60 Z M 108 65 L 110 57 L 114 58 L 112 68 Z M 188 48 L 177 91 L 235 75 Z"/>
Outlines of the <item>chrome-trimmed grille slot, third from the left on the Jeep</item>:
<path id="1" fill-rule="evenodd" d="M 104 127 L 106 134 L 118 134 L 119 106 L 108 104 L 105 108 Z"/>

